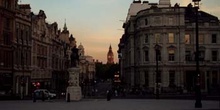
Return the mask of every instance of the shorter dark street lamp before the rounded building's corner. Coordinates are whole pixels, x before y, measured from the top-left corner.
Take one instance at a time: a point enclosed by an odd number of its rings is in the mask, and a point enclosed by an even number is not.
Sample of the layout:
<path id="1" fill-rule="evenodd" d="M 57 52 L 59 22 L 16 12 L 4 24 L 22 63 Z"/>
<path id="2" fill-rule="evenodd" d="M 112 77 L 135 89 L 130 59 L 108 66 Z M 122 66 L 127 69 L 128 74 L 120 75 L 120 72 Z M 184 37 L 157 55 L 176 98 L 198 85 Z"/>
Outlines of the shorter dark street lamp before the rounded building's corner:
<path id="1" fill-rule="evenodd" d="M 154 49 L 156 51 L 156 99 L 159 99 L 159 71 L 158 71 L 158 60 L 159 60 L 159 48 L 160 46 L 158 44 L 155 45 Z"/>

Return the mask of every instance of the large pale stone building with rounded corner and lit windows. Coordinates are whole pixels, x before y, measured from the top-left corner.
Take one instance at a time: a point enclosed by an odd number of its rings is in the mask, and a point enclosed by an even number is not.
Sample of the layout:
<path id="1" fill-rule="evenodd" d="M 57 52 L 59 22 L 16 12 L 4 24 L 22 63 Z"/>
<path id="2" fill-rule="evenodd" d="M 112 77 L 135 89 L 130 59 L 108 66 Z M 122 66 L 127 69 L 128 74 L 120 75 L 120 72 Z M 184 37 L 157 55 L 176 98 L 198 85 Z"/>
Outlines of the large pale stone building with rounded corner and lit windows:
<path id="1" fill-rule="evenodd" d="M 195 8 L 191 4 L 171 7 L 162 1 L 137 11 L 124 23 L 118 50 L 122 79 L 128 88 L 152 93 L 157 44 L 161 92 L 189 93 L 194 91 L 196 78 Z M 159 7 L 161 3 L 166 6 Z M 220 24 L 217 17 L 201 10 L 198 19 L 201 90 L 211 92 L 220 84 Z"/>

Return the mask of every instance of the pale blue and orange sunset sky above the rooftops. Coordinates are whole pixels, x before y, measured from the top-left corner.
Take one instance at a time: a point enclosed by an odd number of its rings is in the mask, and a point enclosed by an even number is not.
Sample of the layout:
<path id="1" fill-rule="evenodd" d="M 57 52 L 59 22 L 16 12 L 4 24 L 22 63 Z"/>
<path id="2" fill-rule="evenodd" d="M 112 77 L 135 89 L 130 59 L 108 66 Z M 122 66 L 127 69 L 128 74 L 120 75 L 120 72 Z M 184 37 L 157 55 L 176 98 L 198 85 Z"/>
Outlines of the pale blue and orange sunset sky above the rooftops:
<path id="1" fill-rule="evenodd" d="M 191 1 L 171 0 L 171 5 L 179 3 L 187 6 Z M 77 45 L 81 43 L 84 46 L 86 55 L 106 63 L 110 44 L 115 62 L 118 62 L 117 50 L 123 34 L 122 25 L 132 2 L 133 0 L 20 0 L 19 3 L 30 4 L 34 13 L 44 10 L 46 21 L 57 22 L 60 29 L 63 29 L 66 19 L 70 34 L 76 38 Z M 219 5 L 220 0 L 201 0 L 200 9 L 220 18 Z"/>

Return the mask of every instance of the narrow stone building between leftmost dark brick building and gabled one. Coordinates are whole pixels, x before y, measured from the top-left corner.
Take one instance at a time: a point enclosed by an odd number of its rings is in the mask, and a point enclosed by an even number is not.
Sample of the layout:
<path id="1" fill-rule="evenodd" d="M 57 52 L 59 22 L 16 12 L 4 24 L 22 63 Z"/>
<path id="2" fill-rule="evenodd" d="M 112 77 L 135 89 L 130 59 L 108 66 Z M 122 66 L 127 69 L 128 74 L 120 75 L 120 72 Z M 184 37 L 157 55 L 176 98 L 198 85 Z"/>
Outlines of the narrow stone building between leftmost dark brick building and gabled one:
<path id="1" fill-rule="evenodd" d="M 15 15 L 15 37 L 13 45 L 14 93 L 30 95 L 31 87 L 31 7 L 17 4 Z"/>

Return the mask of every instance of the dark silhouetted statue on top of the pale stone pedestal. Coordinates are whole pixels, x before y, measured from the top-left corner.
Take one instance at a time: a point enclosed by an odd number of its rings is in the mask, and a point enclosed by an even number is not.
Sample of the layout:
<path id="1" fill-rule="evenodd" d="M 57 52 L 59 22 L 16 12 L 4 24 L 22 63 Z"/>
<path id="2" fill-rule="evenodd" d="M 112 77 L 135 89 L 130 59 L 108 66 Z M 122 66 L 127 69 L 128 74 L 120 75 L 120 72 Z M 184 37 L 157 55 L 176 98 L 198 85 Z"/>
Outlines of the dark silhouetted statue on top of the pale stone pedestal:
<path id="1" fill-rule="evenodd" d="M 79 62 L 78 49 L 74 46 L 71 50 L 71 67 L 77 67 Z"/>

